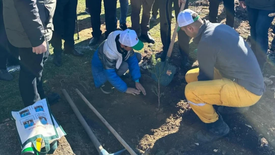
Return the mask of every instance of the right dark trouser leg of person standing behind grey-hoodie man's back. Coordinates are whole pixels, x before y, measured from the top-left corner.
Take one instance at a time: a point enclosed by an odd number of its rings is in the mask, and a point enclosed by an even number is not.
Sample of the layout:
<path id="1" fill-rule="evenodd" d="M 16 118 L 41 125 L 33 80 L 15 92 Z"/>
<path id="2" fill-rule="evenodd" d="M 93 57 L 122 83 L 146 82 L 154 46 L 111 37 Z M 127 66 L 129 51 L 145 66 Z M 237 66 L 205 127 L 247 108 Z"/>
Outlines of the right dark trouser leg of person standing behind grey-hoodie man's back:
<path id="1" fill-rule="evenodd" d="M 226 25 L 234 28 L 236 10 L 234 0 L 223 0 L 224 7 L 226 8 Z"/>

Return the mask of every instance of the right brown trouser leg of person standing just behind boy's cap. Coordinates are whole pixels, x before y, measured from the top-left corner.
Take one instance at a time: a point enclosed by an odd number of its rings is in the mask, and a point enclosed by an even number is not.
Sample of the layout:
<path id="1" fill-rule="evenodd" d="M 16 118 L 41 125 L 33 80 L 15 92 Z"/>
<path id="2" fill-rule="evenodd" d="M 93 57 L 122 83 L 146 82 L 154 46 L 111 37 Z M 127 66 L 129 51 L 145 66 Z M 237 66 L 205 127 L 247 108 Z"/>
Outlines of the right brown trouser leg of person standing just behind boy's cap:
<path id="1" fill-rule="evenodd" d="M 149 23 L 151 10 L 154 0 L 143 0 L 142 1 L 142 18 L 141 18 L 141 34 L 147 35 L 149 32 Z"/>

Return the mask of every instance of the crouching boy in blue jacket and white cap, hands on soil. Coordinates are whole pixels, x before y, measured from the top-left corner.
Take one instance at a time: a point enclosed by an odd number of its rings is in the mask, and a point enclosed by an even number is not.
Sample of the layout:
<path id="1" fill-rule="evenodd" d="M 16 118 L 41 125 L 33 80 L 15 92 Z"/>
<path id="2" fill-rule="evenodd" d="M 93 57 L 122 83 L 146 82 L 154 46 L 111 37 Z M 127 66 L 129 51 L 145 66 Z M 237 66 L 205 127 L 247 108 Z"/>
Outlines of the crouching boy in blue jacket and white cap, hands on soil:
<path id="1" fill-rule="evenodd" d="M 138 63 L 142 56 L 134 50 L 141 50 L 143 43 L 138 39 L 136 32 L 130 29 L 114 31 L 103 41 L 92 59 L 92 74 L 97 88 L 105 94 L 112 93 L 112 86 L 122 93 L 137 95 L 145 89 L 139 83 L 141 77 Z M 128 88 L 122 78 L 127 77 L 129 69 L 136 88 Z"/>

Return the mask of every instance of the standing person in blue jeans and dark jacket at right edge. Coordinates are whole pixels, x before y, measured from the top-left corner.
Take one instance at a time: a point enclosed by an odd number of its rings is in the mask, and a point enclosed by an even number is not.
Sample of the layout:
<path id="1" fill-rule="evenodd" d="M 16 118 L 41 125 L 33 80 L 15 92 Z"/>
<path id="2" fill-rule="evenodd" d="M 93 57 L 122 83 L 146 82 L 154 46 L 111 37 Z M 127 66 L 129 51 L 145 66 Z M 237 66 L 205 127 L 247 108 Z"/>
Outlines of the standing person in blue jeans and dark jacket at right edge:
<path id="1" fill-rule="evenodd" d="M 251 49 L 263 72 L 268 50 L 268 29 L 274 19 L 274 16 L 269 17 L 268 15 L 275 12 L 275 1 L 246 0 L 240 1 L 240 6 L 247 9 L 248 21 L 251 27 Z"/>

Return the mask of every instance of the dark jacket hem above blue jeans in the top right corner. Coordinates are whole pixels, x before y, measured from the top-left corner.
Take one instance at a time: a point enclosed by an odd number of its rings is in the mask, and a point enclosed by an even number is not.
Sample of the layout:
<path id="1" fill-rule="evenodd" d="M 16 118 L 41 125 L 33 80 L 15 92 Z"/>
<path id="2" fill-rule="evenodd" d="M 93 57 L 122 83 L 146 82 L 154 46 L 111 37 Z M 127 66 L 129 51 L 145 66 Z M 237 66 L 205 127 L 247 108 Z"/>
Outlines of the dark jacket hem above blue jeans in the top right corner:
<path id="1" fill-rule="evenodd" d="M 275 11 L 275 0 L 245 0 L 245 3 L 253 9 Z"/>

